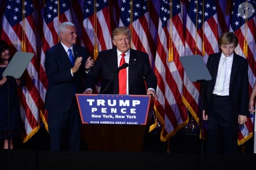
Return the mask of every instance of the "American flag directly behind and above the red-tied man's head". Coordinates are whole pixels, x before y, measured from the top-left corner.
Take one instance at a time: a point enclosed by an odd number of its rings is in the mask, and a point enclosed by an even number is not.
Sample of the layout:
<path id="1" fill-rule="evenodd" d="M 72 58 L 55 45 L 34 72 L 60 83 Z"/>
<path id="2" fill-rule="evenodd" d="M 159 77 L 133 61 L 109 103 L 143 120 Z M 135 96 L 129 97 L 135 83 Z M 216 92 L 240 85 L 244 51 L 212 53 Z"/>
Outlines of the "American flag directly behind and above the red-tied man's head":
<path id="1" fill-rule="evenodd" d="M 146 52 L 151 67 L 154 67 L 156 28 L 151 22 L 147 0 L 122 0 L 119 26 L 127 26 L 131 29 L 132 48 Z"/>

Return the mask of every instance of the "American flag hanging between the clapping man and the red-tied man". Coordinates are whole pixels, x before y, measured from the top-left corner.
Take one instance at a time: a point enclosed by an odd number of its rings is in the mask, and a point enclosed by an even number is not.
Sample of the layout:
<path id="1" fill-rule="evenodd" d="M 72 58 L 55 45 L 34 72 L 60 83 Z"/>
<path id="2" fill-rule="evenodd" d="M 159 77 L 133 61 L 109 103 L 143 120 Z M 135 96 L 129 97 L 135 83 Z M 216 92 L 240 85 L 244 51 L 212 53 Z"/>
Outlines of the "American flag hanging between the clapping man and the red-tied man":
<path id="1" fill-rule="evenodd" d="M 107 0 L 84 1 L 82 41 L 94 59 L 99 51 L 112 48 L 110 21 Z"/>

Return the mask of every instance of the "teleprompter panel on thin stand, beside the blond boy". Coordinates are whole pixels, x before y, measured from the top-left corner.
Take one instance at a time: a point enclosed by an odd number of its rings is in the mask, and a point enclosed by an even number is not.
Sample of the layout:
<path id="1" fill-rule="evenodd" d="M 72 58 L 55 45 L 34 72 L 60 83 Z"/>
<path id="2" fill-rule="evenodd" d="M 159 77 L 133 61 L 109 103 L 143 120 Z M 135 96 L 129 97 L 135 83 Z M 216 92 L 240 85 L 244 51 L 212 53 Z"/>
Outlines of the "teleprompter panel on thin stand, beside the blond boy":
<path id="1" fill-rule="evenodd" d="M 181 64 L 191 82 L 211 80 L 211 74 L 203 62 L 201 55 L 188 55 L 180 57 Z M 201 88 L 201 107 L 203 105 L 203 88 Z M 201 170 L 203 170 L 203 110 L 201 111 Z"/>

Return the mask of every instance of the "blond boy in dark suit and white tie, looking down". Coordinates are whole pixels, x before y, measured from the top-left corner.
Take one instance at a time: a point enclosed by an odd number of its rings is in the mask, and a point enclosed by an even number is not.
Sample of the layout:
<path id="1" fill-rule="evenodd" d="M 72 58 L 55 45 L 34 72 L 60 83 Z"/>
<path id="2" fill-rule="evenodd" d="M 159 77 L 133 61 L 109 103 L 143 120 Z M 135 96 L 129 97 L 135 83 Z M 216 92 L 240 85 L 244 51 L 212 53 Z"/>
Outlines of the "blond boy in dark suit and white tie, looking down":
<path id="1" fill-rule="evenodd" d="M 208 120 L 208 153 L 237 153 L 238 124 L 248 115 L 248 62 L 234 49 L 234 33 L 219 38 L 222 52 L 209 55 L 207 68 L 212 79 L 203 85 L 203 120 Z"/>

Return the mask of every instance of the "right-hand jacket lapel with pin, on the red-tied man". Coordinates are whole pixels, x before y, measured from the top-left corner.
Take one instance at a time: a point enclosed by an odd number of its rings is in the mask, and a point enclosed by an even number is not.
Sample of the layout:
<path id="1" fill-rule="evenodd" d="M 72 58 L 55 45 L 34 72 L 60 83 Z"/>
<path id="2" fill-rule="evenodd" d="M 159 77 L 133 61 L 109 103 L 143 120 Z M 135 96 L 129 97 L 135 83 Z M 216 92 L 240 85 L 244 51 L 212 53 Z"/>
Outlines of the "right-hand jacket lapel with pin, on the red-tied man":
<path id="1" fill-rule="evenodd" d="M 134 50 L 130 50 L 130 58 L 129 58 L 129 70 L 128 70 L 128 88 L 129 88 L 129 92 L 131 90 L 132 87 L 132 81 L 134 78 L 134 74 L 135 74 L 135 70 L 137 67 L 137 62 L 138 62 L 138 56 L 136 55 L 136 52 Z"/>

